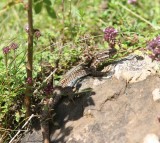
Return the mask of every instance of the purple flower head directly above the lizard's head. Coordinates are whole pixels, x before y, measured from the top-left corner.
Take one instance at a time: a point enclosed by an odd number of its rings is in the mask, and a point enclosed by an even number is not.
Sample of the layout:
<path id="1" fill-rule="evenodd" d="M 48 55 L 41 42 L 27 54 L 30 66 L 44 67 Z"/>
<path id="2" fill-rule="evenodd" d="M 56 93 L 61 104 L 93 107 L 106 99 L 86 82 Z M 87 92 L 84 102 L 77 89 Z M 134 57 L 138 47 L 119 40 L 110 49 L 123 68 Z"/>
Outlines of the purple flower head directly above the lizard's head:
<path id="1" fill-rule="evenodd" d="M 105 41 L 108 42 L 111 48 L 114 48 L 115 46 L 117 34 L 118 34 L 118 31 L 113 27 L 107 27 L 104 30 L 104 39 Z"/>

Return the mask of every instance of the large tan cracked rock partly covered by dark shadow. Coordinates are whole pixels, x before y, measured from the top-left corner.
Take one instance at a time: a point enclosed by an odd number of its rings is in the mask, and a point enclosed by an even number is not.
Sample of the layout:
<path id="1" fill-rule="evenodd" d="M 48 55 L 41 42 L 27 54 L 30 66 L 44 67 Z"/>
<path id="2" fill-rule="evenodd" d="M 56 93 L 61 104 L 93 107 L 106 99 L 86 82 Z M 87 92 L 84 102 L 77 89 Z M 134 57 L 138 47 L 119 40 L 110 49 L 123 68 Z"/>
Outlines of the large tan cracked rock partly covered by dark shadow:
<path id="1" fill-rule="evenodd" d="M 152 92 L 160 86 L 159 76 L 146 76 L 135 83 L 124 79 L 83 80 L 80 90 L 93 91 L 75 103 L 64 98 L 57 106 L 50 125 L 51 143 L 148 143 L 155 137 L 158 143 L 160 103 L 153 100 Z M 42 142 L 40 130 L 22 139 L 22 143 L 33 142 Z"/>

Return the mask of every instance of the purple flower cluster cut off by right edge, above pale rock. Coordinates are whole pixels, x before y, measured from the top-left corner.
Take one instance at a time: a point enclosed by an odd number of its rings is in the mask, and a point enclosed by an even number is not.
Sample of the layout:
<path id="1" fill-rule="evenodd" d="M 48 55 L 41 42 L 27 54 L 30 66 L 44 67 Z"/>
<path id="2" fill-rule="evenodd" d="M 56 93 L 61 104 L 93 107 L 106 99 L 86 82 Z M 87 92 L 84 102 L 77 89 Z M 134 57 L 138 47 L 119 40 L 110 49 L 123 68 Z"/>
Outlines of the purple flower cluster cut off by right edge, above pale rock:
<path id="1" fill-rule="evenodd" d="M 147 49 L 151 51 L 150 57 L 153 60 L 160 60 L 160 36 L 148 42 Z"/>

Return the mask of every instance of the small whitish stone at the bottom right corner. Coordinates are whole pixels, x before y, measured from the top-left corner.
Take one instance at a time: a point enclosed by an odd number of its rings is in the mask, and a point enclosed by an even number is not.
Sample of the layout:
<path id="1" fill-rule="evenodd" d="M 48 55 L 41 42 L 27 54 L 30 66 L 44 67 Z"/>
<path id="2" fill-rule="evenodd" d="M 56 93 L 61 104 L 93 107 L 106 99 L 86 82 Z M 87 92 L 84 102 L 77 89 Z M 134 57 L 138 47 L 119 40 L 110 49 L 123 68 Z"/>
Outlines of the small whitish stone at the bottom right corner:
<path id="1" fill-rule="evenodd" d="M 143 139 L 143 143 L 160 143 L 159 138 L 155 134 L 147 134 Z"/>

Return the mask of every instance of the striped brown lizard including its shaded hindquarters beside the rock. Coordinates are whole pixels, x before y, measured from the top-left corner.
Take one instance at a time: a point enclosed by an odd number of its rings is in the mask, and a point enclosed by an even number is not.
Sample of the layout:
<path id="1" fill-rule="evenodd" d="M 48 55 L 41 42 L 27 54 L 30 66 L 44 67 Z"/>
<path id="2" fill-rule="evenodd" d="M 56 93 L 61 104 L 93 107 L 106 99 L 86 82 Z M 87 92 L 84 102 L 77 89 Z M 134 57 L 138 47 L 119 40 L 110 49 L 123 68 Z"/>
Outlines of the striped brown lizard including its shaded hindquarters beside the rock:
<path id="1" fill-rule="evenodd" d="M 99 65 L 105 62 L 107 59 L 111 58 L 113 55 L 117 53 L 115 48 L 110 48 L 107 50 L 100 51 L 94 54 L 91 59 L 80 63 L 79 65 L 73 67 L 69 70 L 60 80 L 59 86 L 54 87 L 54 93 L 52 98 L 52 109 L 55 105 L 60 101 L 62 95 L 73 95 L 73 88 L 78 82 L 78 80 L 82 79 L 85 76 L 103 76 L 109 70 L 101 72 L 98 71 Z"/>

